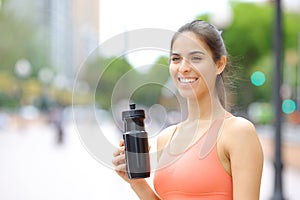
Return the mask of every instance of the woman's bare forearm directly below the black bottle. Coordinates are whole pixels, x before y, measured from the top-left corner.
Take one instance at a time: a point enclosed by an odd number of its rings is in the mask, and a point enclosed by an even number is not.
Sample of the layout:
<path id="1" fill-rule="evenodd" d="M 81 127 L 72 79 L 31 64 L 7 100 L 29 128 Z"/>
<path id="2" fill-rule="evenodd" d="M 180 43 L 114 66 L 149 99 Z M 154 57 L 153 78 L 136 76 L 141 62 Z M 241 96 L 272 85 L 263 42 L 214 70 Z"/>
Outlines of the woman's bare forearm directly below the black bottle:
<path id="1" fill-rule="evenodd" d="M 144 179 L 135 181 L 130 186 L 141 200 L 160 200 Z"/>

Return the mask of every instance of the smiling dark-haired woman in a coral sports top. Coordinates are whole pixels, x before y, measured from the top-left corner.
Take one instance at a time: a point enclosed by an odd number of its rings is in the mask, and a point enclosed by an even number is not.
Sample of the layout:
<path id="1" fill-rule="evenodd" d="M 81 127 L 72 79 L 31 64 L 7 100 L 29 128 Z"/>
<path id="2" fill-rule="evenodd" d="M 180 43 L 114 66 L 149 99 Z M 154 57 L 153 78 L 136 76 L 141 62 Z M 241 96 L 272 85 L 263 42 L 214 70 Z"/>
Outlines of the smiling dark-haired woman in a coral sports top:
<path id="1" fill-rule="evenodd" d="M 253 124 L 225 110 L 226 56 L 220 32 L 205 21 L 185 24 L 172 38 L 170 75 L 188 117 L 158 137 L 155 191 L 144 179 L 128 179 L 123 141 L 113 158 L 140 199 L 259 199 L 262 148 Z"/>

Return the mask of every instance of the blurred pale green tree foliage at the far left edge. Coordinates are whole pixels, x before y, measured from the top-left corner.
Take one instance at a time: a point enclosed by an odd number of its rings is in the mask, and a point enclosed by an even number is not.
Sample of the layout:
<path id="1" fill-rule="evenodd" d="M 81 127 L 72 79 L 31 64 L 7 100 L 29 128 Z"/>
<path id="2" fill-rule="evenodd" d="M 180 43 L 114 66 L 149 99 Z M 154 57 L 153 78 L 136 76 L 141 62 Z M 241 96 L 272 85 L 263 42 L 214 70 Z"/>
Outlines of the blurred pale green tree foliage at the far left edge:
<path id="1" fill-rule="evenodd" d="M 41 30 L 37 29 L 33 20 L 25 16 L 23 18 L 17 17 L 12 9 L 8 9 L 8 4 L 9 1 L 2 1 L 0 10 L 0 73 L 6 74 L 9 80 L 14 81 L 11 90 L 20 90 L 20 88 L 13 88 L 15 85 L 20 87 L 22 82 L 22 80 L 18 80 L 21 78 L 14 71 L 17 61 L 20 59 L 28 60 L 31 64 L 31 74 L 27 78 L 37 77 L 41 67 L 51 67 L 48 58 L 49 48 L 47 47 L 47 40 L 41 39 Z M 35 84 L 40 83 L 36 82 Z M 16 98 L 11 91 L 2 90 L 2 92 L 1 106 L 3 107 L 18 107 L 21 103 L 19 100 L 22 98 L 32 99 L 32 96 L 26 96 L 26 91 L 22 92 L 24 96 L 20 98 Z"/>

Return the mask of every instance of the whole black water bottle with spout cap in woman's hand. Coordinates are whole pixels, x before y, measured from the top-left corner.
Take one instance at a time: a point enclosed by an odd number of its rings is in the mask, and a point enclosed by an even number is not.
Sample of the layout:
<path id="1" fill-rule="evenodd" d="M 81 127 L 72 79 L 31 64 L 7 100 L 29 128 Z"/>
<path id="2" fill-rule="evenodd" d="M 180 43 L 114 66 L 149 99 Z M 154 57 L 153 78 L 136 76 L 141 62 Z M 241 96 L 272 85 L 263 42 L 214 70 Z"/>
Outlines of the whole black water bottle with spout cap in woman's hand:
<path id="1" fill-rule="evenodd" d="M 150 157 L 148 134 L 145 131 L 144 110 L 136 110 L 130 104 L 130 110 L 122 112 L 124 122 L 124 145 L 127 174 L 130 179 L 150 176 Z"/>

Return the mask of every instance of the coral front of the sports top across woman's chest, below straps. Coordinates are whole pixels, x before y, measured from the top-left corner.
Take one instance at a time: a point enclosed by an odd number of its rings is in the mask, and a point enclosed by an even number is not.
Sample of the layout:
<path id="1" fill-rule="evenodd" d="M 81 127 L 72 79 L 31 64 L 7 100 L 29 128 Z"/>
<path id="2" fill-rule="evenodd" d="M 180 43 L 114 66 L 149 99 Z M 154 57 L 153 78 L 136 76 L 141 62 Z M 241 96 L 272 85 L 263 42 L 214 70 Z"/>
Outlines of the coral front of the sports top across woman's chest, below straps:
<path id="1" fill-rule="evenodd" d="M 155 174 L 158 192 L 180 192 L 193 195 L 215 194 L 231 191 L 232 180 L 218 160 L 217 148 L 200 157 L 201 145 L 192 146 L 179 155 L 163 153 Z"/>

